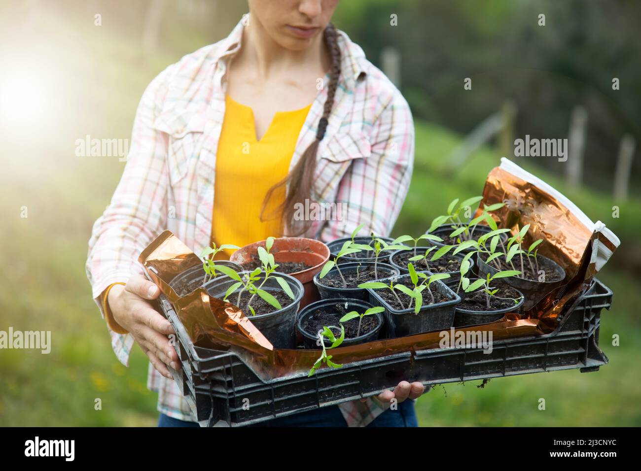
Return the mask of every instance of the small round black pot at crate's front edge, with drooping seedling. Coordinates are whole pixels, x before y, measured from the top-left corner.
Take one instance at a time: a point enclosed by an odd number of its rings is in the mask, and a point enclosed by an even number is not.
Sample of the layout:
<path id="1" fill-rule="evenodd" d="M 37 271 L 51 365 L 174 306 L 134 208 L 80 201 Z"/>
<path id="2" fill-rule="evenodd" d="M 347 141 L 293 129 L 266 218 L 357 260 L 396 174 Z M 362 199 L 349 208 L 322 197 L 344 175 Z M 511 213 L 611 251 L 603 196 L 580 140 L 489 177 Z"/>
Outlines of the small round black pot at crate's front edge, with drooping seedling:
<path id="1" fill-rule="evenodd" d="M 298 329 L 299 333 L 303 336 L 303 343 L 305 345 L 306 349 L 320 349 L 320 345 L 318 344 L 318 336 L 314 335 L 314 333 L 309 333 L 303 329 L 303 322 L 306 320 L 306 318 L 310 317 L 313 313 L 316 311 L 324 311 L 324 312 L 331 312 L 335 313 L 337 311 L 342 310 L 344 314 L 348 313 L 349 311 L 358 311 L 358 313 L 363 313 L 364 311 L 367 311 L 369 308 L 373 308 L 372 304 L 367 301 L 362 301 L 361 299 L 345 299 L 345 298 L 333 298 L 333 299 L 321 299 L 320 301 L 312 302 L 312 304 L 308 304 L 306 308 L 301 310 L 301 312 L 298 313 L 297 316 L 297 321 L 296 321 L 296 328 Z M 378 335 L 379 332 L 381 331 L 381 327 L 383 327 L 383 314 L 381 313 L 376 313 L 372 314 L 376 316 L 378 319 L 378 326 L 376 329 L 370 331 L 369 333 L 365 335 L 359 335 L 358 337 L 354 338 L 345 338 L 343 342 L 340 344 L 341 347 L 347 347 L 348 345 L 357 345 L 358 343 L 365 343 L 365 342 L 372 342 L 374 340 L 378 340 Z M 337 326 L 339 327 L 339 326 Z M 327 338 L 324 339 L 325 345 L 330 346 L 331 342 Z"/>

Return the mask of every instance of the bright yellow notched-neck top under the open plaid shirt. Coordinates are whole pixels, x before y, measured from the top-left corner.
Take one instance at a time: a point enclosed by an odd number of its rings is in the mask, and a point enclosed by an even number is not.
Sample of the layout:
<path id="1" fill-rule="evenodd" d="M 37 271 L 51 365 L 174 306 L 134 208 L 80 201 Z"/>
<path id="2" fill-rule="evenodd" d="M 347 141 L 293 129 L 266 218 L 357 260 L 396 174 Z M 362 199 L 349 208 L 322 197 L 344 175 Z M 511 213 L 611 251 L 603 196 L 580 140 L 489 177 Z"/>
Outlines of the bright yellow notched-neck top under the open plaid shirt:
<path id="1" fill-rule="evenodd" d="M 267 190 L 287 176 L 309 104 L 301 110 L 278 112 L 260 140 L 256 140 L 254 112 L 225 97 L 225 117 L 216 154 L 212 242 L 238 247 L 281 236 L 279 217 L 260 220 Z M 285 200 L 285 188 L 272 195 L 265 215 Z M 233 250 L 217 258 L 229 258 Z"/>

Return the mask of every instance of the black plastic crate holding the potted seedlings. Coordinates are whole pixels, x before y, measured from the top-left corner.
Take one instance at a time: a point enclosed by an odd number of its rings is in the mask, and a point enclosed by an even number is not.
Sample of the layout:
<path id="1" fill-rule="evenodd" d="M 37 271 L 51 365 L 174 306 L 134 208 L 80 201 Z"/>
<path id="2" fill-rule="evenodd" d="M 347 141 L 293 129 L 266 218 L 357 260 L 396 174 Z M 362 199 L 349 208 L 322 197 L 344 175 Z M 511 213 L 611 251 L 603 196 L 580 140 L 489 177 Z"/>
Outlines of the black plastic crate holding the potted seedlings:
<path id="1" fill-rule="evenodd" d="M 160 308 L 178 336 L 183 368 L 172 372 L 197 422 L 203 427 L 246 426 L 272 418 L 355 401 L 393 388 L 399 381 L 440 384 L 568 370 L 596 371 L 608 363 L 599 349 L 601 310 L 612 291 L 598 280 L 545 335 L 520 336 L 480 348 L 425 349 L 322 368 L 263 381 L 237 355 L 196 347 L 163 295 Z"/>

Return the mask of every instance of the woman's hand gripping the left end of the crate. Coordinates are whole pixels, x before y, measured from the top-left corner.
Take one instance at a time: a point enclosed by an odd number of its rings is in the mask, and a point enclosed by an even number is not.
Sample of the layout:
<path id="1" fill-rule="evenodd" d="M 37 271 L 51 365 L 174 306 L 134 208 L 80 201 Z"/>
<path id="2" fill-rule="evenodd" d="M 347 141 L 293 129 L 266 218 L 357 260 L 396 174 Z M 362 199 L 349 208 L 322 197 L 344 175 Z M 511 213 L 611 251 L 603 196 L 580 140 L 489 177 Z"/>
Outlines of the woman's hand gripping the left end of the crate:
<path id="1" fill-rule="evenodd" d="M 158 286 L 142 275 L 133 275 L 126 285 L 112 287 L 107 302 L 113 320 L 133 335 L 154 368 L 162 376 L 171 379 L 167 366 L 174 370 L 180 368 L 178 354 L 167 338 L 167 335 L 174 333 L 174 329 L 169 320 L 162 317 L 146 301 L 156 299 L 158 295 Z"/>

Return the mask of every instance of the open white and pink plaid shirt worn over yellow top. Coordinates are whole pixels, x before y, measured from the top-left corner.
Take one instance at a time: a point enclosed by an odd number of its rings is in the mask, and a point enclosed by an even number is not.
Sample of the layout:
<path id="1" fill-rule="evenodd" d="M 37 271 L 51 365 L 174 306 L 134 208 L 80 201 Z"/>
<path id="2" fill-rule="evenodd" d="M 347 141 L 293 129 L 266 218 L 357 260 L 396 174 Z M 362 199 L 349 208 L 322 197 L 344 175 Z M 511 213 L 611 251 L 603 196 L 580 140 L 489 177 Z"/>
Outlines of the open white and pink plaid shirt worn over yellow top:
<path id="1" fill-rule="evenodd" d="M 242 28 L 239 22 L 229 37 L 167 67 L 142 96 L 121 181 L 89 241 L 87 276 L 103 317 L 101 293 L 142 272 L 138 255 L 163 230 L 196 253 L 210 245 L 224 75 L 240 48 Z M 312 223 L 307 235 L 324 241 L 349 235 L 362 223 L 363 234 L 388 235 L 410 185 L 414 156 L 408 104 L 362 49 L 339 35 L 340 86 L 319 145 L 315 192 L 320 203 L 341 203 L 344 217 Z M 310 108 L 291 167 L 315 139 L 326 95 L 326 88 L 320 90 Z M 133 336 L 109 330 L 113 351 L 127 365 Z M 194 420 L 178 386 L 151 363 L 147 386 L 158 392 L 159 411 Z M 340 409 L 349 426 L 365 426 L 385 405 L 369 399 Z"/>

